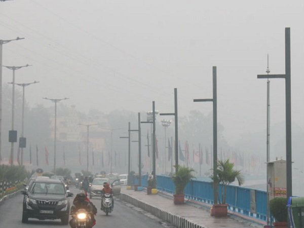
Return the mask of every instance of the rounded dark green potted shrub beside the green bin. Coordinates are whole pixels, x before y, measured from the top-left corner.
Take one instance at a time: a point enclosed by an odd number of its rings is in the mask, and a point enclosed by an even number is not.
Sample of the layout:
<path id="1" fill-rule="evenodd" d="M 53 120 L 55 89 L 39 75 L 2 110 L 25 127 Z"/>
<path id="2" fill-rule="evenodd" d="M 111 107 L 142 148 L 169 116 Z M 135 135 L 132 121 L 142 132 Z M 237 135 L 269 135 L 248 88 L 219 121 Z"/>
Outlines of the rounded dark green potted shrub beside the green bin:
<path id="1" fill-rule="evenodd" d="M 287 198 L 276 197 L 269 201 L 269 210 L 276 221 L 273 223 L 276 228 L 287 228 Z"/>

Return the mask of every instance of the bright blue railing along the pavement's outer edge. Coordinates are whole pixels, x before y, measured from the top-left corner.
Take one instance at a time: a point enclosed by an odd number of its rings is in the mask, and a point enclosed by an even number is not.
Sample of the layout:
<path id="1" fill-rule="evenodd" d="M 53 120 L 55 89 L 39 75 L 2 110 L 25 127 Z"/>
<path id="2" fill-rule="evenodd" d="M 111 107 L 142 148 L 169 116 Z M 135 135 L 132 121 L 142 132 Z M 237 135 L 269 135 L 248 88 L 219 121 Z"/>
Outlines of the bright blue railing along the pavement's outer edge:
<path id="1" fill-rule="evenodd" d="M 138 183 L 135 178 L 134 184 Z M 147 186 L 147 175 L 142 176 L 142 186 Z M 185 187 L 185 198 L 213 204 L 212 182 L 192 180 Z M 157 188 L 170 194 L 175 193 L 175 185 L 169 176 L 157 175 Z M 219 196 L 222 188 L 219 186 Z M 241 186 L 227 186 L 226 203 L 229 209 L 262 221 L 267 219 L 267 193 L 258 189 Z"/>

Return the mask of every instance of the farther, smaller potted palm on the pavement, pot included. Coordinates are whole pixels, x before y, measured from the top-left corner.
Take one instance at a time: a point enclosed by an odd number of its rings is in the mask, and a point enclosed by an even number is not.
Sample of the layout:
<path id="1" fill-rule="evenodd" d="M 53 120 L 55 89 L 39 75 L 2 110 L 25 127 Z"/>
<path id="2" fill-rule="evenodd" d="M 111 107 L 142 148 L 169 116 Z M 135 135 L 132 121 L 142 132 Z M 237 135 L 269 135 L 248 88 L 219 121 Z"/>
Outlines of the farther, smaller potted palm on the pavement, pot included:
<path id="1" fill-rule="evenodd" d="M 183 204 L 184 203 L 184 189 L 186 184 L 195 176 L 192 175 L 194 169 L 184 167 L 184 166 L 174 166 L 175 169 L 177 168 L 177 172 L 173 174 L 171 177 L 174 184 L 175 184 L 175 195 L 174 197 L 174 204 Z"/>

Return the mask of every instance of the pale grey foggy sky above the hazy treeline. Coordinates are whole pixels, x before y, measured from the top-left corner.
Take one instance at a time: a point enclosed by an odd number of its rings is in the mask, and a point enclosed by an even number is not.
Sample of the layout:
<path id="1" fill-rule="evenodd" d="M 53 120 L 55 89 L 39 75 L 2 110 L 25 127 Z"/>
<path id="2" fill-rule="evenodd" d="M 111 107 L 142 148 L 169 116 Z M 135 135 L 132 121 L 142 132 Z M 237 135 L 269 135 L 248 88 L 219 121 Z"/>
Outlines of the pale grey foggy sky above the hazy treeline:
<path id="1" fill-rule="evenodd" d="M 0 3 L 3 65 L 16 71 L 30 106 L 63 98 L 88 112 L 115 109 L 206 115 L 217 66 L 218 122 L 230 143 L 266 127 L 267 54 L 285 73 L 285 27 L 291 28 L 292 122 L 304 125 L 303 1 L 15 0 Z M 3 83 L 12 71 L 3 69 Z M 16 88 L 19 89 L 19 88 Z M 11 108 L 11 107 L 3 107 Z M 285 121 L 285 82 L 271 80 L 271 125 Z M 282 132 L 284 134 L 284 132 Z"/>

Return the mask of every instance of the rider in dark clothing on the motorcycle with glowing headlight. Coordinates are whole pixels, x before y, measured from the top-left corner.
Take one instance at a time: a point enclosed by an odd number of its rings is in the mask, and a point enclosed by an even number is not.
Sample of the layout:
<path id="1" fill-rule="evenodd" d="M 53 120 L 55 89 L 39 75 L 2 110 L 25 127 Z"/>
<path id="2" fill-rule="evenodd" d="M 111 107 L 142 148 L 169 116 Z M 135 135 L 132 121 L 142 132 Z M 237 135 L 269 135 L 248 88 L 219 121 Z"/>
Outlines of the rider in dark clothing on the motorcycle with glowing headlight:
<path id="1" fill-rule="evenodd" d="M 72 228 L 77 227 L 77 220 L 73 217 L 73 215 L 77 212 L 79 209 L 85 209 L 88 213 L 91 214 L 91 219 L 89 220 L 89 227 L 92 227 L 96 224 L 96 220 L 93 215 L 93 207 L 90 202 L 86 200 L 86 194 L 79 193 L 76 195 L 75 199 L 73 200 L 73 205 L 71 206 L 70 214 L 72 215 L 71 220 L 69 221 L 69 224 Z"/>

